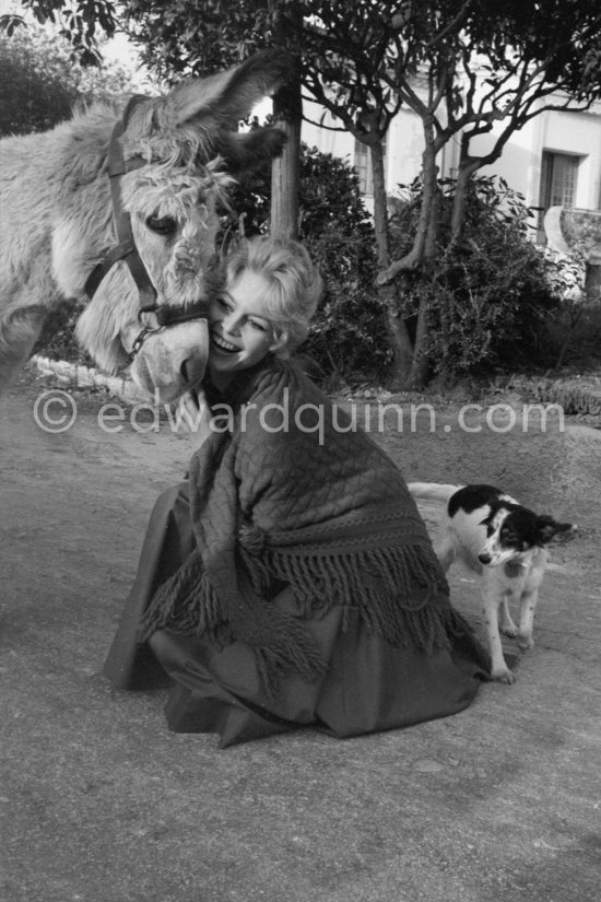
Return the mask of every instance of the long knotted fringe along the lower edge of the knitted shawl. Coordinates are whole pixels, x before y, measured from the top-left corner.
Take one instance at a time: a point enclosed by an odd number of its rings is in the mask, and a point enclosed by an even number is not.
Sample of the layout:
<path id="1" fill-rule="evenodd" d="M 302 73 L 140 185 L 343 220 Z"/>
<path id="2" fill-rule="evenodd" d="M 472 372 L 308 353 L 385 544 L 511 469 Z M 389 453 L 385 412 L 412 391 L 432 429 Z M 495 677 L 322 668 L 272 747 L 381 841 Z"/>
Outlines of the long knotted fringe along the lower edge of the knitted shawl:
<path id="1" fill-rule="evenodd" d="M 244 614 L 235 622 L 214 591 L 200 551 L 155 593 L 139 632 L 145 642 L 155 630 L 207 636 L 217 647 L 239 640 L 257 656 L 266 686 L 294 669 L 316 679 L 325 663 L 302 618 L 343 610 L 342 628 L 357 612 L 367 628 L 397 647 L 413 645 L 431 654 L 449 647 L 449 635 L 471 632 L 448 601 L 445 577 L 429 546 L 394 546 L 352 552 L 311 554 L 307 549 L 263 548 L 259 554 L 238 546 Z M 300 617 L 279 610 L 266 597 L 291 586 Z"/>

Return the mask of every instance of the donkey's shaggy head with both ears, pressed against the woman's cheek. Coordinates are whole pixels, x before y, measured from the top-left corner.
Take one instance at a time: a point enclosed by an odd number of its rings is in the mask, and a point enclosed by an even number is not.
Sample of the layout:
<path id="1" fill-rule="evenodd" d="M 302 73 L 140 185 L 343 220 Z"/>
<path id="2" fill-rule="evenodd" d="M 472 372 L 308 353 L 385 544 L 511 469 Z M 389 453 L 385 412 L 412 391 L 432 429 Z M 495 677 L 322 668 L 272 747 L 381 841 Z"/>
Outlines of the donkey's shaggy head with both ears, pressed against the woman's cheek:
<path id="1" fill-rule="evenodd" d="M 138 261 L 132 267 L 122 259 L 105 265 L 78 337 L 109 372 L 130 362 L 135 351 L 133 378 L 162 401 L 198 385 L 204 373 L 202 307 L 211 291 L 219 207 L 236 175 L 279 154 L 285 140 L 278 129 L 235 129 L 283 82 L 286 67 L 281 54 L 258 54 L 228 72 L 188 81 L 165 97 L 139 101 L 123 126 L 119 153 L 126 172 L 119 174 L 116 206 L 129 215 Z M 109 229 L 108 244 L 115 245 L 113 224 Z M 63 247 L 69 244 L 69 236 L 61 238 Z M 132 276 L 137 268 L 145 273 L 148 290 L 140 290 Z M 140 314 L 149 293 L 155 311 Z M 196 318 L 177 321 L 190 307 L 198 311 Z M 175 323 L 161 326 L 166 309 Z"/>

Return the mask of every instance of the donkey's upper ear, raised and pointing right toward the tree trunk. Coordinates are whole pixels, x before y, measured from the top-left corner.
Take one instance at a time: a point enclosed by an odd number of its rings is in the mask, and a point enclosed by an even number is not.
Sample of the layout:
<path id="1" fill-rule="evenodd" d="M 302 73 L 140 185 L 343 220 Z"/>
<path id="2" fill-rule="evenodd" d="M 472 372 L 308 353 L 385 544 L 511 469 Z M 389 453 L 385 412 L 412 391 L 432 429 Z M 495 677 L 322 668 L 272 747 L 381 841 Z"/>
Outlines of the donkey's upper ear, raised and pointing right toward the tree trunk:
<path id="1" fill-rule="evenodd" d="M 175 124 L 235 128 L 259 101 L 285 83 L 291 71 L 290 55 L 263 50 L 226 72 L 184 82 L 168 97 Z"/>

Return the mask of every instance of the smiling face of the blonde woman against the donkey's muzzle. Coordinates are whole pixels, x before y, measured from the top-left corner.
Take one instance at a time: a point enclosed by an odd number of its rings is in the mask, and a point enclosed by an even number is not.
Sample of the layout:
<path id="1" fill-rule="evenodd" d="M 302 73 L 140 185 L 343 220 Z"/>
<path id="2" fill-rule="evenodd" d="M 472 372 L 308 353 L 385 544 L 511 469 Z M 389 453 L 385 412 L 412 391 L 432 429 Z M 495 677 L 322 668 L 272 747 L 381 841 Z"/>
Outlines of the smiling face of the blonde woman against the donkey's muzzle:
<path id="1" fill-rule="evenodd" d="M 268 289 L 263 276 L 246 269 L 211 302 L 209 368 L 217 385 L 280 347 L 264 307 Z"/>

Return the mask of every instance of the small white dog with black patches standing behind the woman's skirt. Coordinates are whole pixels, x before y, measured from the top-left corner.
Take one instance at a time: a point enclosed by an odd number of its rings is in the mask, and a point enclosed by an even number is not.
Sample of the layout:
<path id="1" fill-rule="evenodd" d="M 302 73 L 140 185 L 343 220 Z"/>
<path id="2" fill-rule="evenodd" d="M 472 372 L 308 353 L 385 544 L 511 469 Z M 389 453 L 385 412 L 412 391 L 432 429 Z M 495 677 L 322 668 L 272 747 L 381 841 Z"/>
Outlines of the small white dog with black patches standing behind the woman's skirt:
<path id="1" fill-rule="evenodd" d="M 447 502 L 447 523 L 436 553 L 445 572 L 458 558 L 482 575 L 482 613 L 492 658 L 491 675 L 512 683 L 500 645 L 500 632 L 517 636 L 518 646 L 531 648 L 534 609 L 554 536 L 577 531 L 570 523 L 556 523 L 535 514 L 493 485 L 443 485 L 410 482 L 415 499 Z M 519 629 L 511 620 L 509 600 L 520 601 Z"/>

